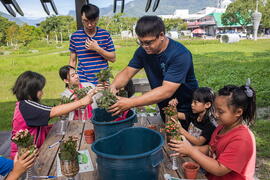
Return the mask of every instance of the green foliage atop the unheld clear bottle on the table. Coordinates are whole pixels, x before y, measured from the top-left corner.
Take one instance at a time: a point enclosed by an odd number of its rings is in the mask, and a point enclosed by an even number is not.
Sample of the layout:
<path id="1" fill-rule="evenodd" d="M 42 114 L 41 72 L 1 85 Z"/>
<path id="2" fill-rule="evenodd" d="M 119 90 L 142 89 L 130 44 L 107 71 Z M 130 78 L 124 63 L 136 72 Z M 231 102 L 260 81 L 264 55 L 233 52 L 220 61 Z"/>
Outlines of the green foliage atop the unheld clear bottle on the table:
<path id="1" fill-rule="evenodd" d="M 77 138 L 69 136 L 68 140 L 60 143 L 60 153 L 59 158 L 61 160 L 76 160 L 78 158 L 77 152 Z"/>

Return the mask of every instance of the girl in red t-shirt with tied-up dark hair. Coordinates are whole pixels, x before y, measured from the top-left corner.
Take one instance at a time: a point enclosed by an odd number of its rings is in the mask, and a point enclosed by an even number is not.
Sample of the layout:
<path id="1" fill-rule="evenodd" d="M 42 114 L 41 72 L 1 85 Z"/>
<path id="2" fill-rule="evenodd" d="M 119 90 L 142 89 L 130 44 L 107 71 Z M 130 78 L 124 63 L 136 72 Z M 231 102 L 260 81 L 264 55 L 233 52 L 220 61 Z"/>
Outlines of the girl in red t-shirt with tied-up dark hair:
<path id="1" fill-rule="evenodd" d="M 255 117 L 255 91 L 246 86 L 228 85 L 215 99 L 219 126 L 209 145 L 193 147 L 186 141 L 171 141 L 174 155 L 185 154 L 200 164 L 211 180 L 254 179 L 256 143 L 248 128 Z"/>

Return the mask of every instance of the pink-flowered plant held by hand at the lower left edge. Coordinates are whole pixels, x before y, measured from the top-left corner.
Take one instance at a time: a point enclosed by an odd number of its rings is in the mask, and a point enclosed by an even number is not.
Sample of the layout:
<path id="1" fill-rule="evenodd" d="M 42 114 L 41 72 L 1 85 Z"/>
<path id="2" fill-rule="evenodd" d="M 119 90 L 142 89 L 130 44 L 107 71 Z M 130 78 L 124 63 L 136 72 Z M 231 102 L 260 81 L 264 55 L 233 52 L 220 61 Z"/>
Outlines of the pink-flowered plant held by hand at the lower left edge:
<path id="1" fill-rule="evenodd" d="M 19 156 L 27 151 L 30 151 L 30 154 L 32 154 L 37 149 L 36 145 L 34 145 L 34 137 L 28 129 L 19 130 L 11 140 L 17 145 Z"/>

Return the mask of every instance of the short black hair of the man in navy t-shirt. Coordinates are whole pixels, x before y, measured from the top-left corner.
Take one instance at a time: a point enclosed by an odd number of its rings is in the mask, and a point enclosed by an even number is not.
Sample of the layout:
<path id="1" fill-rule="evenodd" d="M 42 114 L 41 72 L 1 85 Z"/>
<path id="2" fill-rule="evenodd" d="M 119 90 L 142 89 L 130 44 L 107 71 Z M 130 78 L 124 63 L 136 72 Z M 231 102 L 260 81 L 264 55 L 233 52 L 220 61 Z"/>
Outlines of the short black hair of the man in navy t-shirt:
<path id="1" fill-rule="evenodd" d="M 161 32 L 165 34 L 165 25 L 158 16 L 143 16 L 138 20 L 135 31 L 139 37 L 158 37 Z"/>

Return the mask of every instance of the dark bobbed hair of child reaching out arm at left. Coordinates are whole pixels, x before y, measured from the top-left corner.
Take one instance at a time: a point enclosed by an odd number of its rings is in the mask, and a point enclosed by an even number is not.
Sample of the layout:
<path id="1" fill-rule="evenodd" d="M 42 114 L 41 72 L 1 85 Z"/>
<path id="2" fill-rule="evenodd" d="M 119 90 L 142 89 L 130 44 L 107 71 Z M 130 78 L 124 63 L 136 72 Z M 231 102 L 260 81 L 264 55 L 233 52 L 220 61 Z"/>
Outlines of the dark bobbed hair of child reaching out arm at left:
<path id="1" fill-rule="evenodd" d="M 38 91 L 41 91 L 46 83 L 46 79 L 39 73 L 25 71 L 16 80 L 12 93 L 16 95 L 18 101 L 32 100 L 39 102 Z"/>

